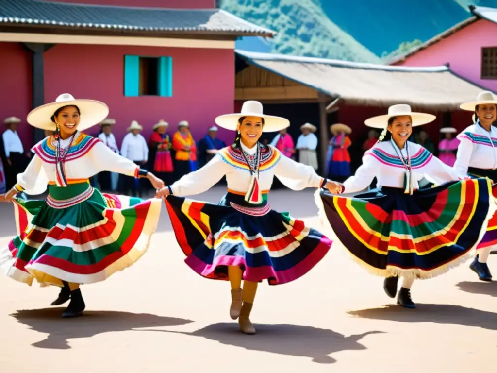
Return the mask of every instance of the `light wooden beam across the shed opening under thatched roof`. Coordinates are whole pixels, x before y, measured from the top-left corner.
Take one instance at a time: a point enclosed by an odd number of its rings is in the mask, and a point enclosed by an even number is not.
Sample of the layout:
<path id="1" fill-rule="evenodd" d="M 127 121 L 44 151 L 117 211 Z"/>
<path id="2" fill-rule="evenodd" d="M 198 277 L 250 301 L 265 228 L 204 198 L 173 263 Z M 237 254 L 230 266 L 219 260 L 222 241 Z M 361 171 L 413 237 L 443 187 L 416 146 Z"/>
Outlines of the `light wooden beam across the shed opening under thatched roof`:
<path id="1" fill-rule="evenodd" d="M 318 93 L 312 88 L 305 86 L 283 86 L 283 87 L 258 87 L 258 88 L 236 88 L 235 99 L 245 100 L 297 100 L 318 99 Z"/>

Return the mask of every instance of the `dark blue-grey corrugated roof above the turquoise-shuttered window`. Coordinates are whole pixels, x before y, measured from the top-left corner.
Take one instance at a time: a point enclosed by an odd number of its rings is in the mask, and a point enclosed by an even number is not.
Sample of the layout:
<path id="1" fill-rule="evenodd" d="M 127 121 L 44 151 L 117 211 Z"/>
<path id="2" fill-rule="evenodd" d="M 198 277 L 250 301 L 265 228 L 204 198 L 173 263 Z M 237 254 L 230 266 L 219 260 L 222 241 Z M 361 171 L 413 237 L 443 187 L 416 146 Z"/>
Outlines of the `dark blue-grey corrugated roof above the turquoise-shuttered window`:
<path id="1" fill-rule="evenodd" d="M 0 23 L 237 36 L 275 34 L 222 9 L 163 9 L 35 0 L 0 0 Z"/>

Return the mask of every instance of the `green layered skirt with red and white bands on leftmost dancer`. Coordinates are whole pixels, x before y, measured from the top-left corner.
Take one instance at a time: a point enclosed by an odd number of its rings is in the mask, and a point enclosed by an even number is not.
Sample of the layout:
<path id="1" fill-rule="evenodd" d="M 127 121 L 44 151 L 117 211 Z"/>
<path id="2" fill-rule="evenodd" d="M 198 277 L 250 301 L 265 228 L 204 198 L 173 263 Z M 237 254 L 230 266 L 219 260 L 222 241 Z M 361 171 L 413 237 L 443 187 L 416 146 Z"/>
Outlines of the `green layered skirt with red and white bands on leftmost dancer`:
<path id="1" fill-rule="evenodd" d="M 161 199 L 101 194 L 88 183 L 48 191 L 46 200 L 14 200 L 17 236 L 0 251 L 8 277 L 29 285 L 98 282 L 147 251 Z"/>

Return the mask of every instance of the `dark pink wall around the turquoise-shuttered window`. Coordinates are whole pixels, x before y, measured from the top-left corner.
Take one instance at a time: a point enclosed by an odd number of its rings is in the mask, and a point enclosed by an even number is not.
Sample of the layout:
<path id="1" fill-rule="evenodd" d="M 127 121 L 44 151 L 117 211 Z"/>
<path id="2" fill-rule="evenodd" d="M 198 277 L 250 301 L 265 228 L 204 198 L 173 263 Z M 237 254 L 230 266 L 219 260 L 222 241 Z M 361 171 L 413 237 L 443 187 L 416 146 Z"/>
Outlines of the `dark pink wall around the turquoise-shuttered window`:
<path id="1" fill-rule="evenodd" d="M 172 97 L 123 94 L 124 55 L 172 57 Z M 168 132 L 187 120 L 195 140 L 214 124 L 217 115 L 233 111 L 235 58 L 232 49 L 161 48 L 140 46 L 58 44 L 45 52 L 45 101 L 61 93 L 105 102 L 116 119 L 114 135 L 120 145 L 132 120 L 143 127 L 148 140 L 152 126 L 164 119 Z M 20 88 L 19 88 L 20 89 Z M 24 88 L 22 88 L 24 90 Z M 87 133 L 98 132 L 98 126 Z M 220 129 L 219 138 L 233 140 Z"/>

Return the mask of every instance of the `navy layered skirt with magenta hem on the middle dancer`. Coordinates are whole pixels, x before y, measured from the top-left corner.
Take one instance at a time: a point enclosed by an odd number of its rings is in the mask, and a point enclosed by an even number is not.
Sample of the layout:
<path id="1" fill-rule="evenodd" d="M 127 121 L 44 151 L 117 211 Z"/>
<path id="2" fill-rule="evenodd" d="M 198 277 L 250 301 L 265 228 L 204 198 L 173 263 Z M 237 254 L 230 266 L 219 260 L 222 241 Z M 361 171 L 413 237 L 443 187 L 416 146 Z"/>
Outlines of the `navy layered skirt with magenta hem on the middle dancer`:
<path id="1" fill-rule="evenodd" d="M 254 206 L 230 192 L 216 205 L 171 195 L 166 206 L 186 264 L 208 279 L 228 280 L 228 266 L 238 266 L 244 280 L 287 283 L 309 272 L 331 247 L 303 221 L 271 210 L 267 198 Z"/>

